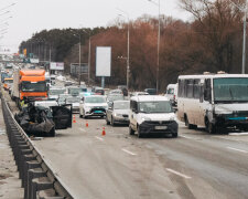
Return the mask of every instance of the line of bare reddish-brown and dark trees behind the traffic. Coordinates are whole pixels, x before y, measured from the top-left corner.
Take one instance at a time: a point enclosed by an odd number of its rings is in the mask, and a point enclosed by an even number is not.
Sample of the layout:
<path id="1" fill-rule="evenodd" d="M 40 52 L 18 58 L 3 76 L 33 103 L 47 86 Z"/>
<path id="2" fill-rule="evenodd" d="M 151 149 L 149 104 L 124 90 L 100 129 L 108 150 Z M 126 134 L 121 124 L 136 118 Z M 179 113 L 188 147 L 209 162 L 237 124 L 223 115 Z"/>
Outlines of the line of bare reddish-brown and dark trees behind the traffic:
<path id="1" fill-rule="evenodd" d="M 241 72 L 242 17 L 235 6 L 244 6 L 245 0 L 181 0 L 181 8 L 191 12 L 192 21 L 161 15 L 159 85 L 164 91 L 170 83 L 176 83 L 183 74 L 203 72 Z M 88 62 L 90 38 L 90 81 L 99 83 L 95 76 L 96 46 L 111 46 L 111 77 L 108 85 L 126 84 L 127 30 L 130 29 L 130 87 L 143 90 L 155 87 L 158 57 L 158 18 L 142 15 L 128 24 L 117 19 L 107 28 L 64 29 L 35 33 L 23 41 L 20 50 L 40 51 L 45 59 L 47 46 L 52 48 L 52 60 L 69 64 L 78 63 L 78 35 L 80 34 L 82 63 Z M 33 43 L 33 49 L 31 45 Z M 36 44 L 34 44 L 36 43 Z M 40 48 L 39 50 L 39 44 Z M 45 50 L 46 46 L 46 50 Z M 46 56 L 47 57 L 47 56 Z M 41 57 L 40 57 L 41 59 Z M 47 60 L 47 59 L 46 59 Z M 87 82 L 87 76 L 85 76 Z"/>

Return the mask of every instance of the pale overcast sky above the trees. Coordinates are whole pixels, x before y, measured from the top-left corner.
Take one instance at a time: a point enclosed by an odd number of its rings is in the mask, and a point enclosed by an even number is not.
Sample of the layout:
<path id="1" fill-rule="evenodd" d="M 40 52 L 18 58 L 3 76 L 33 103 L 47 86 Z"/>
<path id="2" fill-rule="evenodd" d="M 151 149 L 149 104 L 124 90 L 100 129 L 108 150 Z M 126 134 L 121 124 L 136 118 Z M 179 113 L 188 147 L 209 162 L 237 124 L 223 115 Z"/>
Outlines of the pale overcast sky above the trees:
<path id="1" fill-rule="evenodd" d="M 161 14 L 191 19 L 179 0 L 160 1 Z M 13 2 L 14 6 L 3 9 Z M 158 15 L 158 7 L 148 0 L 0 0 L 0 35 L 6 32 L 2 23 L 9 23 L 8 33 L 0 39 L 0 50 L 18 52 L 21 41 L 44 29 L 106 27 L 120 13 L 117 8 L 128 12 L 131 20 L 144 13 Z M 12 18 L 6 20 L 9 17 Z"/>

